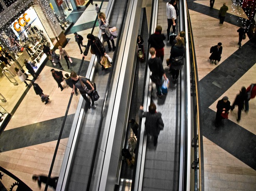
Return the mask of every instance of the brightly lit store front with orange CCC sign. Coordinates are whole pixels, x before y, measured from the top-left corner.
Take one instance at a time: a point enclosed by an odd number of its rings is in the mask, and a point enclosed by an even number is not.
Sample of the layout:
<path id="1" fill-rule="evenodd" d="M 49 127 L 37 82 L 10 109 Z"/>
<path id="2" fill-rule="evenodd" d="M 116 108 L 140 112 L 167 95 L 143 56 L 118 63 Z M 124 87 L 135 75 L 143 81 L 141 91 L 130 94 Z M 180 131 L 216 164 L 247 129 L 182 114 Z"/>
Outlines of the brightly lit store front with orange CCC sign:
<path id="1" fill-rule="evenodd" d="M 14 76 L 14 68 L 22 68 L 25 60 L 37 71 L 46 58 L 42 51 L 43 44 L 53 47 L 32 6 L 0 29 L 0 43 L 1 54 L 7 58 L 7 63 L 0 64 L 0 70 L 8 71 Z"/>

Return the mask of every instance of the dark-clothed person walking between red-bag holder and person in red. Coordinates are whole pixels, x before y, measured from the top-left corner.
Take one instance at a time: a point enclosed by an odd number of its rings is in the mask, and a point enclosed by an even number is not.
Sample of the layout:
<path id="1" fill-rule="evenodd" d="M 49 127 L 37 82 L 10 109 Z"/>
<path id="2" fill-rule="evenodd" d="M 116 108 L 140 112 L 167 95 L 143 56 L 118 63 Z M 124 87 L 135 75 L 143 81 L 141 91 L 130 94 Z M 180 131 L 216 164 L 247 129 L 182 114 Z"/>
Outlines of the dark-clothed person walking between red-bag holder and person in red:
<path id="1" fill-rule="evenodd" d="M 241 111 L 244 107 L 244 102 L 246 99 L 247 99 L 246 88 L 242 87 L 240 93 L 236 95 L 236 99 L 235 99 L 234 103 L 232 104 L 232 106 L 230 107 L 231 111 L 233 111 L 235 106 L 236 105 L 238 106 L 238 114 L 237 114 L 237 119 L 236 119 L 236 121 L 238 121 L 238 122 L 241 120 Z"/>

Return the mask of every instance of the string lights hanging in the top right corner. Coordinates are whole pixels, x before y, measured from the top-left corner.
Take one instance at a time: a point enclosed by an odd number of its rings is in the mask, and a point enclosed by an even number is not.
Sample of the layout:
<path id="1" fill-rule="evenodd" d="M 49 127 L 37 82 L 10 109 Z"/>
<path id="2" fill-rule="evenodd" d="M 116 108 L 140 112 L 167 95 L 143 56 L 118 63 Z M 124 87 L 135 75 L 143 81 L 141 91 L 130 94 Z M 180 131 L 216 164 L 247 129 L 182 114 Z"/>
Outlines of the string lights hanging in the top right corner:
<path id="1" fill-rule="evenodd" d="M 231 12 L 234 12 L 234 15 L 239 15 L 239 19 L 237 22 L 241 22 L 242 26 L 246 26 L 245 29 L 246 32 L 249 31 L 249 28 L 256 28 L 256 23 L 254 21 L 254 15 L 255 15 L 255 5 L 256 0 L 233 0 L 233 3 L 231 5 Z M 243 9 L 248 19 L 241 17 L 241 11 L 240 9 Z M 253 31 L 255 33 L 255 30 Z"/>

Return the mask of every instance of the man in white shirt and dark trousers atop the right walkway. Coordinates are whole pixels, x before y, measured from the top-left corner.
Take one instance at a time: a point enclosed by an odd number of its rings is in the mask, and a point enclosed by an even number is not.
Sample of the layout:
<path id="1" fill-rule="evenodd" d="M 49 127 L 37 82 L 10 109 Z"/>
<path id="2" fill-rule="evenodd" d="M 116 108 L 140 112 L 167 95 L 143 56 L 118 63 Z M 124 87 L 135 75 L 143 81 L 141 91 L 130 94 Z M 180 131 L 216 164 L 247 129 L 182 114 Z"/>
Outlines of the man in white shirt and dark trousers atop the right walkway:
<path id="1" fill-rule="evenodd" d="M 174 5 L 176 5 L 177 1 L 176 0 L 171 0 L 167 2 L 166 4 L 166 15 L 167 15 L 167 22 L 168 22 L 168 27 L 167 27 L 167 39 L 169 41 L 169 34 L 170 34 L 170 29 L 172 26 L 172 32 L 176 32 L 176 10 Z"/>

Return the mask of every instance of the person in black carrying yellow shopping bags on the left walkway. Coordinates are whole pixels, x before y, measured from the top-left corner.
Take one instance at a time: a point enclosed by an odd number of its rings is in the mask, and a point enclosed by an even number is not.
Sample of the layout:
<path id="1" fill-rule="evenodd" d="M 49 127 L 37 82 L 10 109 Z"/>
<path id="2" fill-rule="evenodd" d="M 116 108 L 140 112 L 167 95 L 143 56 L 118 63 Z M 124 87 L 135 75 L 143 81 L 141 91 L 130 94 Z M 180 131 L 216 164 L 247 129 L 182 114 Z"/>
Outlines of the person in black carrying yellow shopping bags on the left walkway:
<path id="1" fill-rule="evenodd" d="M 88 42 L 83 57 L 85 58 L 85 56 L 87 56 L 89 48 L 91 47 L 91 52 L 93 52 L 96 55 L 98 63 L 100 64 L 102 56 L 106 54 L 106 49 L 104 48 L 102 42 L 99 40 L 97 36 L 94 36 L 93 34 L 87 34 L 87 39 Z M 102 65 L 101 70 L 104 69 L 104 65 Z"/>

